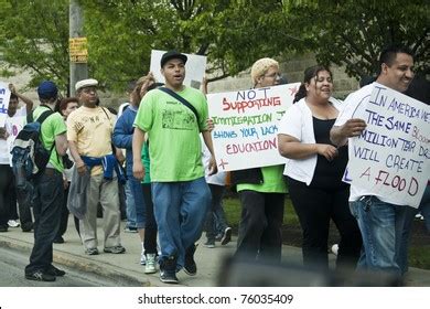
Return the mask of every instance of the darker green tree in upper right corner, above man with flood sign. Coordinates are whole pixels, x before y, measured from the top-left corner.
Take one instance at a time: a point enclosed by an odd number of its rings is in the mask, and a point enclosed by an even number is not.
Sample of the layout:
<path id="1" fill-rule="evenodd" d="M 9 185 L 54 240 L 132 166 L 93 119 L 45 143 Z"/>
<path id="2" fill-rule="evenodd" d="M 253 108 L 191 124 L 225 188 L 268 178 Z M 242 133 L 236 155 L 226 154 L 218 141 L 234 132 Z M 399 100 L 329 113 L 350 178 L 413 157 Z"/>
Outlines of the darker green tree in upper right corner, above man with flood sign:
<path id="1" fill-rule="evenodd" d="M 430 4 L 427 0 L 284 1 L 289 26 L 311 34 L 308 46 L 320 63 L 345 65 L 351 76 L 378 73 L 389 44 L 415 54 L 417 72 L 430 73 Z"/>

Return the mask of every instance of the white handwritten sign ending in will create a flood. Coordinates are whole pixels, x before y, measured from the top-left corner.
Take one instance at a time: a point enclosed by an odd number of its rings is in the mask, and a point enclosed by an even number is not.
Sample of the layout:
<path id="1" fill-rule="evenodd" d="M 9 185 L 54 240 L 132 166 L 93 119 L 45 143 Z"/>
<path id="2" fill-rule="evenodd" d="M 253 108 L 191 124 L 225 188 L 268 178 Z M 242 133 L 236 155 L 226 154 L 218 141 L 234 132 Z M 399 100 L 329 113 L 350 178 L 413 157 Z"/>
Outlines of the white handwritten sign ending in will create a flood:
<path id="1" fill-rule="evenodd" d="M 353 184 L 418 207 L 430 177 L 430 107 L 376 84 L 363 117 L 367 127 L 350 151 Z"/>

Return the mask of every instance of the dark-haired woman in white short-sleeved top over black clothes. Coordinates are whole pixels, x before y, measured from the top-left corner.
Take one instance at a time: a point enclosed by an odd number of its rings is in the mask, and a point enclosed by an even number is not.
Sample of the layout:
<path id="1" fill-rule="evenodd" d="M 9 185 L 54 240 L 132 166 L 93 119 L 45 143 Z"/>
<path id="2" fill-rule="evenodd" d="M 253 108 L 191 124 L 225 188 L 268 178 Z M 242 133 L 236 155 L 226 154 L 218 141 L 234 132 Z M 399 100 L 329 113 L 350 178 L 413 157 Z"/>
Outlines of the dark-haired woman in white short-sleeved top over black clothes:
<path id="1" fill-rule="evenodd" d="M 289 159 L 284 174 L 290 198 L 303 230 L 303 264 L 329 267 L 330 220 L 341 234 L 337 266 L 354 267 L 362 237 L 348 209 L 350 187 L 342 181 L 347 148 L 336 149 L 330 129 L 340 102 L 332 98 L 332 73 L 316 65 L 305 70 L 304 82 L 279 126 L 279 152 Z"/>

